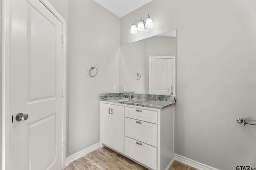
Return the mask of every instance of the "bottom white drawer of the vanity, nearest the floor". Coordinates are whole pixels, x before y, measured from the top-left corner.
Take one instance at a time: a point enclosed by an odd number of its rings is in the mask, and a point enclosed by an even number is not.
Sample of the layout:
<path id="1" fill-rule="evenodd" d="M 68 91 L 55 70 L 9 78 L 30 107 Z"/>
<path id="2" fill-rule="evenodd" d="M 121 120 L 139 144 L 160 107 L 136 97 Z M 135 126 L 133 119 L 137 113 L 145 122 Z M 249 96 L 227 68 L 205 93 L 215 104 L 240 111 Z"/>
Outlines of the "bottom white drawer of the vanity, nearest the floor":
<path id="1" fill-rule="evenodd" d="M 124 154 L 130 158 L 156 170 L 157 148 L 125 137 Z"/>

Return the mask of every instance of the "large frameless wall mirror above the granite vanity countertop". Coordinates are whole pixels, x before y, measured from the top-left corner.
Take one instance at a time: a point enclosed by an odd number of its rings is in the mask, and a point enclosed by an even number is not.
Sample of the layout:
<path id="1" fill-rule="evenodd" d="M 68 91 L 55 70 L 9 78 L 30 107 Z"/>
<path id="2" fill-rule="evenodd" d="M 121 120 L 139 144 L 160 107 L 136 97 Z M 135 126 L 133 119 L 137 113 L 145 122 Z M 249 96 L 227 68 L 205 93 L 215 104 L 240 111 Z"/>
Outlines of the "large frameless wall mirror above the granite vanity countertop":
<path id="1" fill-rule="evenodd" d="M 177 30 L 120 47 L 120 92 L 176 95 Z"/>

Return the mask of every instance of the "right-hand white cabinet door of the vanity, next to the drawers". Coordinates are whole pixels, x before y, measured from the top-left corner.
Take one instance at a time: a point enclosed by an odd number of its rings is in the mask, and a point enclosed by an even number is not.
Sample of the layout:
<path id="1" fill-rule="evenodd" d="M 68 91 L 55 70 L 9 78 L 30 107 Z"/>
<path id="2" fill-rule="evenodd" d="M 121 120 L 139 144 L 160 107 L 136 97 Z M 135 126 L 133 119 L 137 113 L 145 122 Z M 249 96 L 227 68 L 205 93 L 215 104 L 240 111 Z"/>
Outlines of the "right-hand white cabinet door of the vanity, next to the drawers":
<path id="1" fill-rule="evenodd" d="M 124 153 L 124 106 L 112 105 L 111 147 Z"/>

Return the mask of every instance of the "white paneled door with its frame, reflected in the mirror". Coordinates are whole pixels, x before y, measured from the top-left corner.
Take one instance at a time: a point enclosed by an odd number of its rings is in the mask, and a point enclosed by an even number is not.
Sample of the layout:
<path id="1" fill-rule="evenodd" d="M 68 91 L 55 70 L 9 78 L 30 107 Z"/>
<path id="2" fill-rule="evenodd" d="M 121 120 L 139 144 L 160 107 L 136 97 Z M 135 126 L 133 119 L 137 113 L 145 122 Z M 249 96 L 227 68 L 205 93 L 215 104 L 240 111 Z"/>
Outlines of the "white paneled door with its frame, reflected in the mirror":
<path id="1" fill-rule="evenodd" d="M 175 91 L 175 58 L 150 56 L 149 93 L 171 94 Z"/>

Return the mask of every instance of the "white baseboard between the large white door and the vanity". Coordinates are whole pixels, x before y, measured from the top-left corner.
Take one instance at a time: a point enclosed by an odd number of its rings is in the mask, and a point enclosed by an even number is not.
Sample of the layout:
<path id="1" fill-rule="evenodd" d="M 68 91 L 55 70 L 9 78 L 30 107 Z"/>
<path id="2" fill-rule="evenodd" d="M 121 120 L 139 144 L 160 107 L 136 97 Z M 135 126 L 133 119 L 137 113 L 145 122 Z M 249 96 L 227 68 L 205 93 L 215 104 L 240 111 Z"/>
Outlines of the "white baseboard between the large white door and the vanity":
<path id="1" fill-rule="evenodd" d="M 65 166 L 68 166 L 68 164 L 70 164 L 71 162 L 77 160 L 78 158 L 83 157 L 84 155 L 86 155 L 86 154 L 88 154 L 88 153 L 90 153 L 90 152 L 92 152 L 92 151 L 94 151 L 98 148 L 100 148 L 100 143 L 96 143 L 96 144 L 94 144 L 94 145 L 92 145 L 92 146 L 90 146 L 90 147 L 88 147 L 84 150 L 81 150 L 81 151 L 79 151 L 75 154 L 72 154 L 71 156 L 68 156 L 68 158 L 66 158 L 66 161 L 65 161 Z"/>

